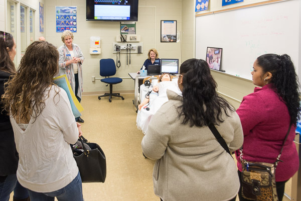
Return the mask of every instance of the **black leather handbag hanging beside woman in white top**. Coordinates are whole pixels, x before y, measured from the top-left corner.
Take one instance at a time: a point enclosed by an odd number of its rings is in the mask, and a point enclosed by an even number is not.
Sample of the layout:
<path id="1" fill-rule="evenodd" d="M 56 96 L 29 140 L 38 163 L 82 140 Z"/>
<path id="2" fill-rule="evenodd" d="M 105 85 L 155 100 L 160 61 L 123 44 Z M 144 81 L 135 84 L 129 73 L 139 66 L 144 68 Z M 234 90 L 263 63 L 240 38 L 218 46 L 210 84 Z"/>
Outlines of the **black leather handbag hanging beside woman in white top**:
<path id="1" fill-rule="evenodd" d="M 78 155 L 78 152 L 73 149 L 72 151 L 82 182 L 104 182 L 106 159 L 102 149 L 98 144 L 88 142 L 83 136 L 79 137 L 79 141 L 82 143 L 83 152 Z M 91 150 L 87 150 L 84 144 L 87 144 Z"/>

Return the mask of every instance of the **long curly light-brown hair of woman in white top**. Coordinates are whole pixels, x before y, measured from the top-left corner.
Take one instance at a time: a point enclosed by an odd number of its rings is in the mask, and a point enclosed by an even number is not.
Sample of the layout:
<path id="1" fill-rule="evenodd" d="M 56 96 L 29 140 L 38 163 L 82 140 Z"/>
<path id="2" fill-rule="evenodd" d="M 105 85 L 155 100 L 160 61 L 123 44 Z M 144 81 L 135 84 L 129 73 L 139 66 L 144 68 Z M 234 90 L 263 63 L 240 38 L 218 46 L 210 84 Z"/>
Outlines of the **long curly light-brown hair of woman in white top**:
<path id="1" fill-rule="evenodd" d="M 27 47 L 16 75 L 7 83 L 3 102 L 5 110 L 29 122 L 45 108 L 45 91 L 53 85 L 58 72 L 59 53 L 45 41 L 35 41 Z M 58 93 L 57 93 L 58 94 Z"/>

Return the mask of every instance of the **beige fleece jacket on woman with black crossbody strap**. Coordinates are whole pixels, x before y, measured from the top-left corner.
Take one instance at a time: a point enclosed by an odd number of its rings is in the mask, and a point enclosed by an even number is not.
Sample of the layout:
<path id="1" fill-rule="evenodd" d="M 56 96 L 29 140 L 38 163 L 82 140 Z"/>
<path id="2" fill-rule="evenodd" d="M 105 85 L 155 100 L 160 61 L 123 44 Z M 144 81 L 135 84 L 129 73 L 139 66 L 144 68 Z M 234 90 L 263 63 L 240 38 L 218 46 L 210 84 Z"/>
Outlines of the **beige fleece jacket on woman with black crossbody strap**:
<path id="1" fill-rule="evenodd" d="M 183 97 L 167 91 L 169 101 L 155 114 L 141 146 L 148 158 L 157 159 L 153 172 L 155 194 L 164 201 L 221 201 L 233 198 L 239 179 L 233 158 L 216 141 L 207 126 L 181 124 L 177 107 Z M 242 127 L 236 112 L 217 130 L 230 151 L 243 143 Z"/>

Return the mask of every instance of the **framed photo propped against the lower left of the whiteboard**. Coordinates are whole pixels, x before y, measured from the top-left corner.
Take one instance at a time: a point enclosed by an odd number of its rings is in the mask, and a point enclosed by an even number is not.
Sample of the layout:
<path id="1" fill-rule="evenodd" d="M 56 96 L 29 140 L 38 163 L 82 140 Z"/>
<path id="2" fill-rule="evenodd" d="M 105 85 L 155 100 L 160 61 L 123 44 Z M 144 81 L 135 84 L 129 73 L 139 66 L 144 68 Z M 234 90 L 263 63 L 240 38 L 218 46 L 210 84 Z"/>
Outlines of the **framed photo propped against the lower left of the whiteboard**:
<path id="1" fill-rule="evenodd" d="M 206 62 L 209 68 L 221 70 L 222 67 L 222 48 L 207 47 Z"/>

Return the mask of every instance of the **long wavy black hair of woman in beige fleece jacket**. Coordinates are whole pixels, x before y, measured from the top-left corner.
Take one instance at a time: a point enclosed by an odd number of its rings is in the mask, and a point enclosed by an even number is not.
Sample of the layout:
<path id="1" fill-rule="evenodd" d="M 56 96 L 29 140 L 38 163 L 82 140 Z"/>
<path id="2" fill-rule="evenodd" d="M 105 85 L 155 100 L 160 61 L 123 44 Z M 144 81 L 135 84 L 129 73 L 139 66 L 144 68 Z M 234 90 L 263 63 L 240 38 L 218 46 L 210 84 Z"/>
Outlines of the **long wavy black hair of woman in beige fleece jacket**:
<path id="1" fill-rule="evenodd" d="M 216 92 L 217 84 L 210 74 L 206 61 L 188 59 L 182 63 L 180 73 L 183 75 L 183 104 L 179 107 L 183 124 L 202 127 L 224 122 L 223 112 L 229 116 L 229 110 L 235 109 Z"/>

